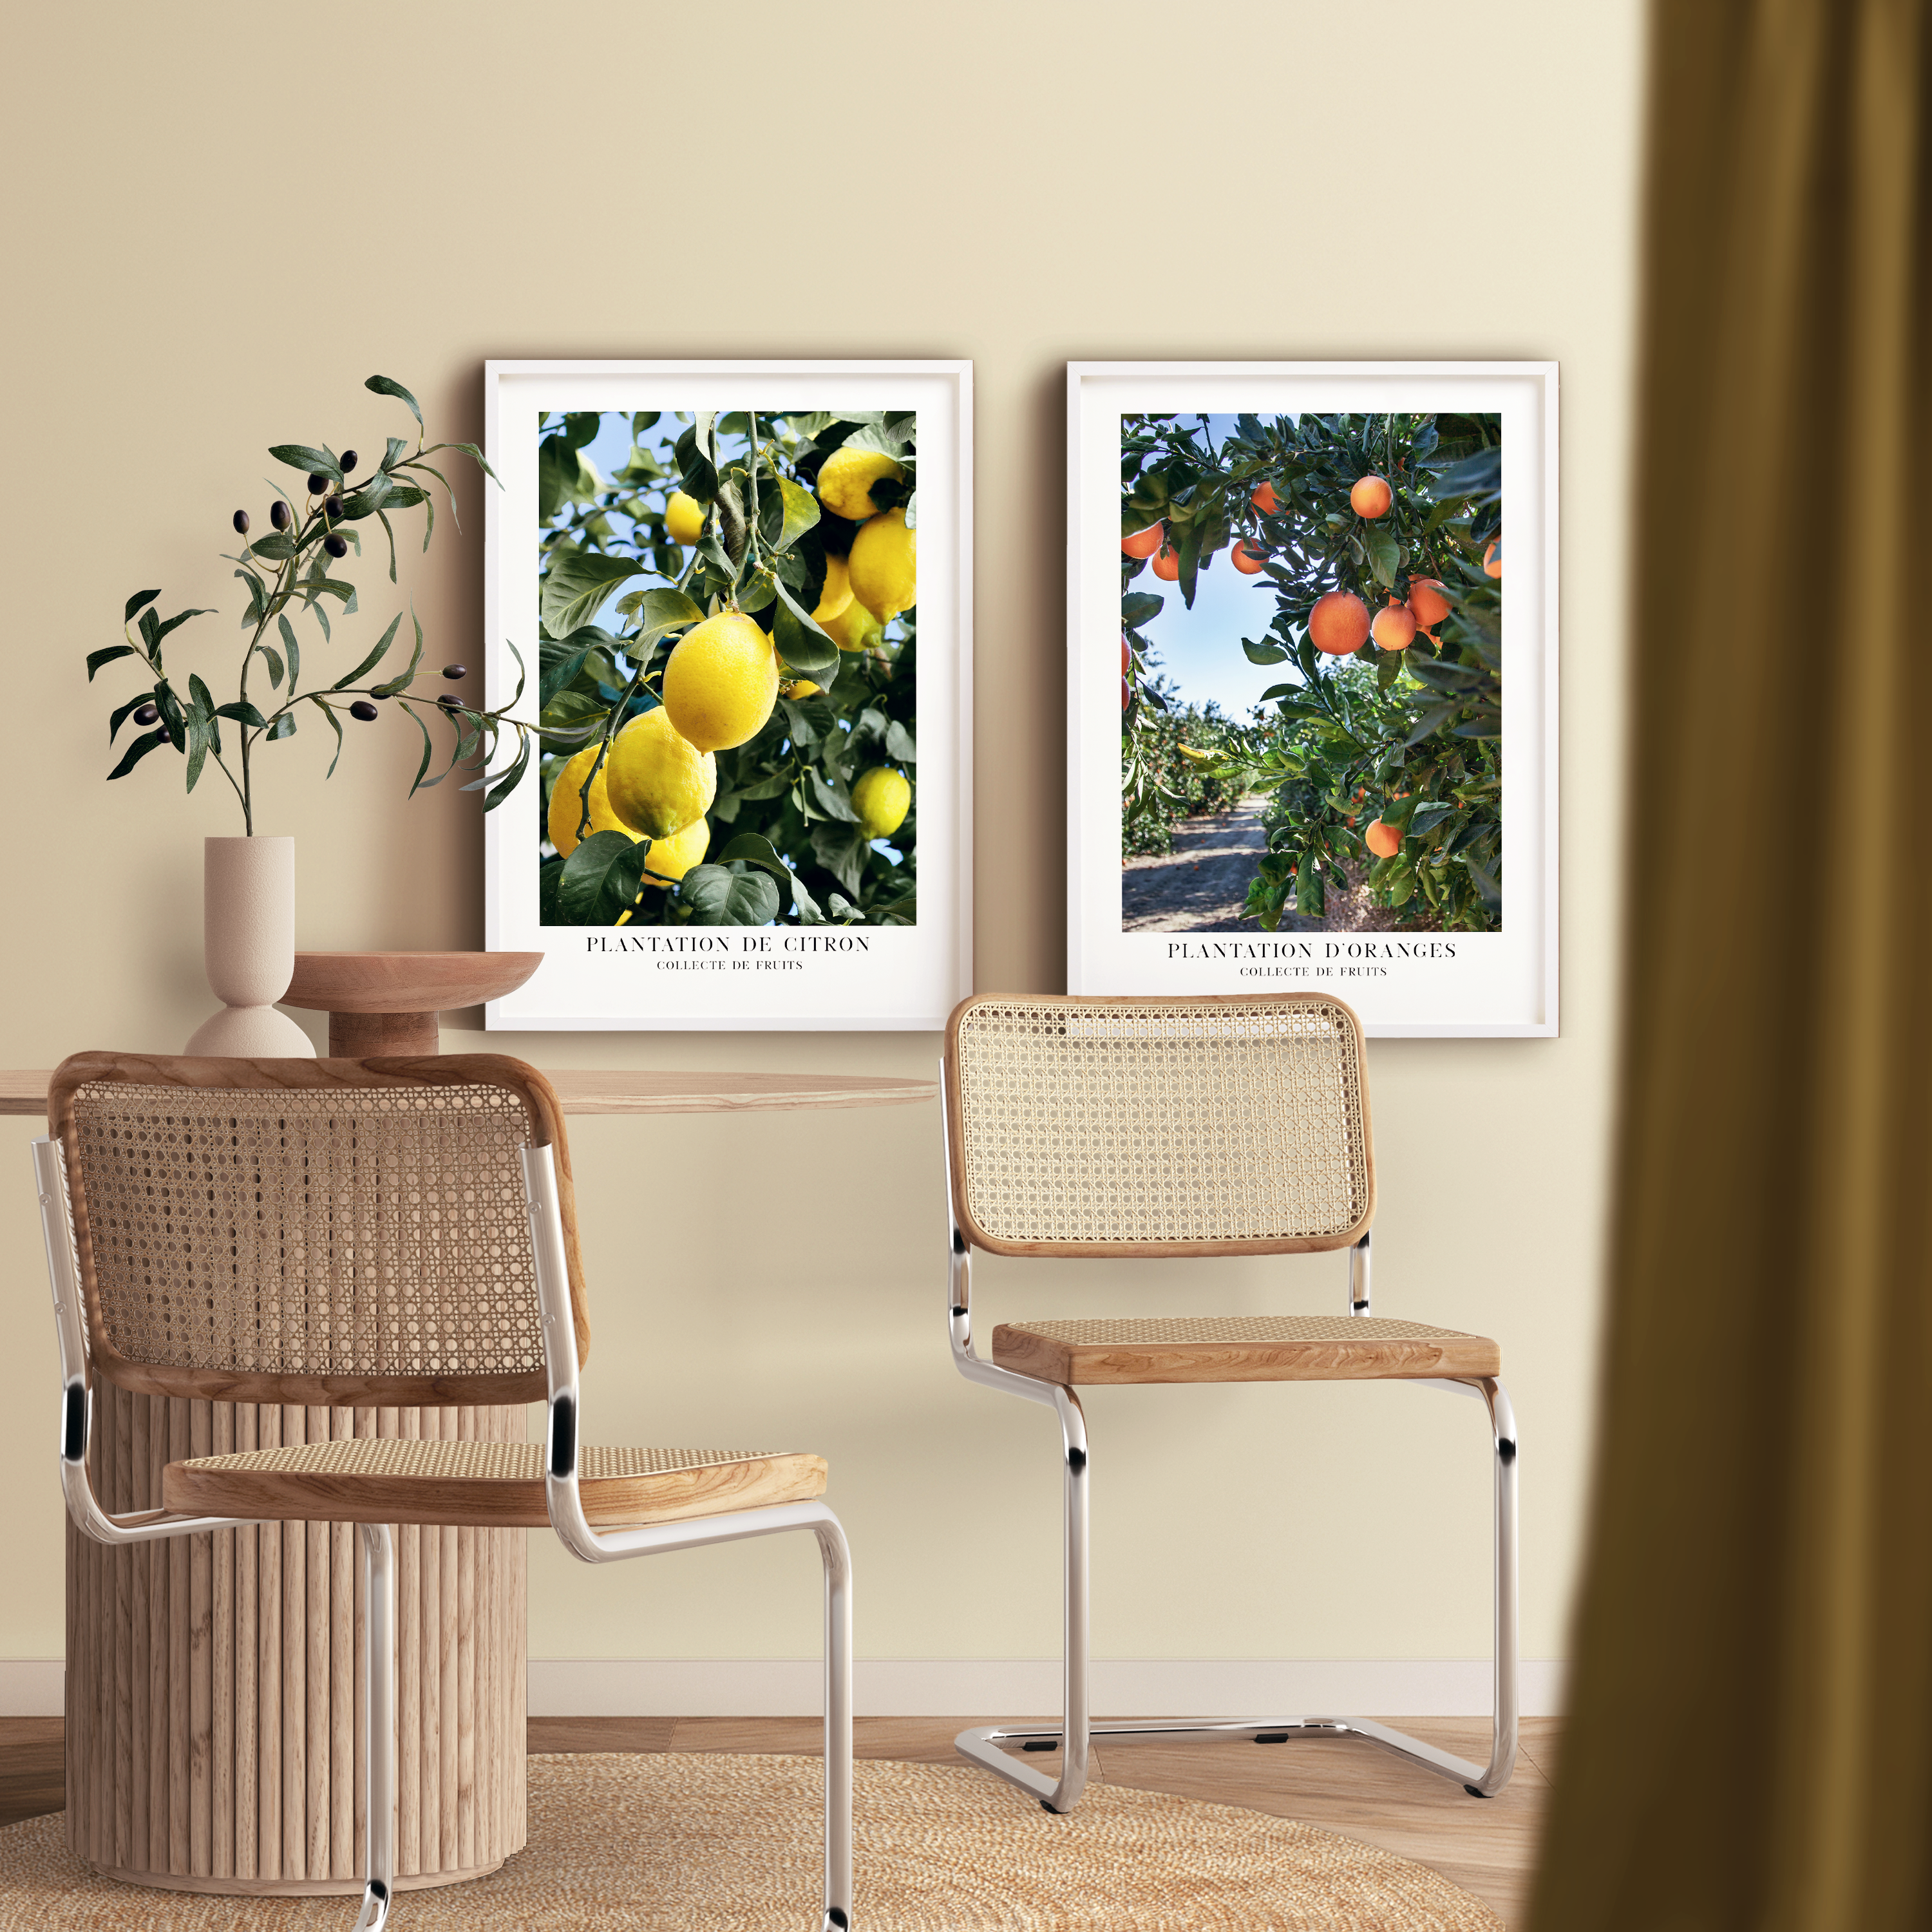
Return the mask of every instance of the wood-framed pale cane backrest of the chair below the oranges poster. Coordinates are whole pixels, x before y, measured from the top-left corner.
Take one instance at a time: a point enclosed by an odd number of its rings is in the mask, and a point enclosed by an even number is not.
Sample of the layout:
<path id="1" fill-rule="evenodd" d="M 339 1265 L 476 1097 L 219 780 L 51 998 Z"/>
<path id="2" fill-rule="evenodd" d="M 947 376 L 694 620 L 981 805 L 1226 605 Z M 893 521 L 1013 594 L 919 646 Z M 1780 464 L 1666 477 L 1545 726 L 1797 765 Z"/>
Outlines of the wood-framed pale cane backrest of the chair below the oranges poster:
<path id="1" fill-rule="evenodd" d="M 985 1001 L 956 1068 L 964 1206 L 995 1240 L 1308 1240 L 1368 1209 L 1341 1005 Z"/>

